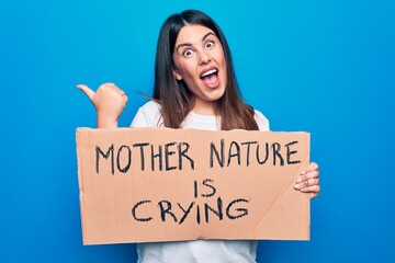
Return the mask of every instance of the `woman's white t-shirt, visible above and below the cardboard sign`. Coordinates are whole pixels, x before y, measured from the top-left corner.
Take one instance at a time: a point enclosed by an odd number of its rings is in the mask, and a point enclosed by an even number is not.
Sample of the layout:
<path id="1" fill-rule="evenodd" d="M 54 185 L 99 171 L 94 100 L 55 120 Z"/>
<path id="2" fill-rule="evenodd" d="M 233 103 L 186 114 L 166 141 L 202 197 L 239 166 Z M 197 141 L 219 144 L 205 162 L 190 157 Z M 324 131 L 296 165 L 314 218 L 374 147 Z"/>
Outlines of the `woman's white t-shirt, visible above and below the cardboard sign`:
<path id="1" fill-rule="evenodd" d="M 259 130 L 269 130 L 269 121 L 255 111 Z M 132 127 L 162 126 L 160 106 L 150 101 L 143 105 Z M 218 130 L 217 117 L 191 112 L 182 128 Z M 192 240 L 137 244 L 138 263 L 251 263 L 256 262 L 256 240 Z"/>

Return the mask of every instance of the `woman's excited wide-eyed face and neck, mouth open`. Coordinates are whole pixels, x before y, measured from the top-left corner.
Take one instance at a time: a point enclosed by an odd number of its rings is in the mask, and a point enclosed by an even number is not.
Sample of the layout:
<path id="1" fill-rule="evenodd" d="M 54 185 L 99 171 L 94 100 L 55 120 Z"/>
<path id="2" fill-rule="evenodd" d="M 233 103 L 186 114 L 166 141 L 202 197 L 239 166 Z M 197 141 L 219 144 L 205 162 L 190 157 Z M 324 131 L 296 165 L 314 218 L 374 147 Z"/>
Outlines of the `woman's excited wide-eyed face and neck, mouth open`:
<path id="1" fill-rule="evenodd" d="M 214 104 L 226 89 L 226 61 L 217 36 L 203 25 L 181 28 L 173 50 L 173 73 L 195 95 L 193 111 L 214 114 Z"/>

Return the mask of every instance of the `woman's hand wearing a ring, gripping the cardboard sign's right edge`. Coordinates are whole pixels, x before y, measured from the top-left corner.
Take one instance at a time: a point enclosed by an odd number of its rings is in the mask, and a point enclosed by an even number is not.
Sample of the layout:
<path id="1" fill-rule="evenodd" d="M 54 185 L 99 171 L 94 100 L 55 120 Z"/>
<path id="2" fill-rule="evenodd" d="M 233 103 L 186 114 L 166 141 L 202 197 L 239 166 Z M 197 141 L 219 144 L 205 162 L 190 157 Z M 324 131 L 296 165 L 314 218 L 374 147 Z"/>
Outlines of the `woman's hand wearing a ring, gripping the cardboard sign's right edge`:
<path id="1" fill-rule="evenodd" d="M 301 176 L 296 180 L 294 185 L 295 190 L 303 193 L 311 193 L 314 198 L 319 194 L 319 172 L 318 164 L 311 162 L 302 172 Z"/>

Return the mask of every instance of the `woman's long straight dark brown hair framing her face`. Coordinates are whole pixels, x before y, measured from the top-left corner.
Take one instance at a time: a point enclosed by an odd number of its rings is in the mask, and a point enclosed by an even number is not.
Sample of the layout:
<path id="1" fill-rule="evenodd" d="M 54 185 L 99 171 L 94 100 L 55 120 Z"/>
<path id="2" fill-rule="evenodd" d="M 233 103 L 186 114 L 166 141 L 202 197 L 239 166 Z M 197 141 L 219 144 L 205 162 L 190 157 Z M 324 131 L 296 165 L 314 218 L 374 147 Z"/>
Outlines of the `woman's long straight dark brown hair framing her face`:
<path id="1" fill-rule="evenodd" d="M 241 99 L 233 67 L 229 46 L 219 26 L 208 15 L 196 10 L 185 10 L 180 14 L 169 16 L 159 33 L 156 60 L 154 99 L 161 106 L 163 125 L 180 128 L 181 123 L 194 105 L 194 95 L 183 80 L 176 80 L 172 53 L 180 30 L 185 24 L 200 24 L 211 28 L 218 37 L 226 60 L 227 85 L 224 95 L 217 101 L 216 114 L 221 117 L 221 129 L 257 130 L 252 107 Z"/>

